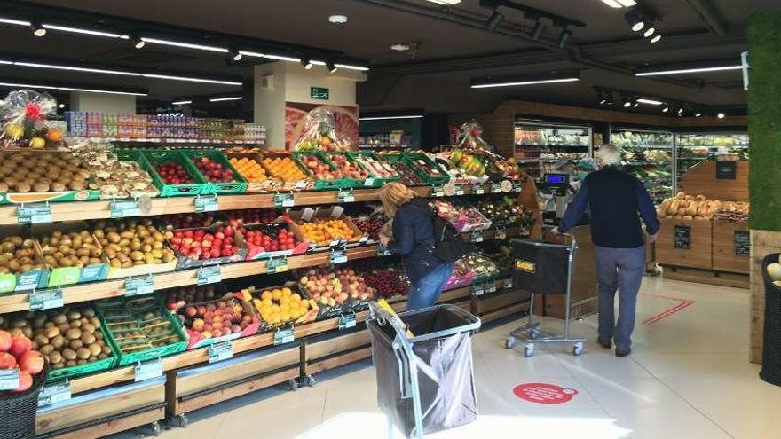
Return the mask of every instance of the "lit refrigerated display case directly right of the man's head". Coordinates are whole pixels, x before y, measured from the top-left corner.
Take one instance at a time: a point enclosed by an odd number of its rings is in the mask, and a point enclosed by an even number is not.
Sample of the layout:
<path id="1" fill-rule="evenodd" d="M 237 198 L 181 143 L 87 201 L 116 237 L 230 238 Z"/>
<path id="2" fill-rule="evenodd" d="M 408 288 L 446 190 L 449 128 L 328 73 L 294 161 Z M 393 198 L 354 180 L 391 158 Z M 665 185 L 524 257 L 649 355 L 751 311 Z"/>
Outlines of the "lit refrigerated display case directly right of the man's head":
<path id="1" fill-rule="evenodd" d="M 675 137 L 670 131 L 611 129 L 611 144 L 621 152 L 621 166 L 640 179 L 659 203 L 673 196 Z"/>

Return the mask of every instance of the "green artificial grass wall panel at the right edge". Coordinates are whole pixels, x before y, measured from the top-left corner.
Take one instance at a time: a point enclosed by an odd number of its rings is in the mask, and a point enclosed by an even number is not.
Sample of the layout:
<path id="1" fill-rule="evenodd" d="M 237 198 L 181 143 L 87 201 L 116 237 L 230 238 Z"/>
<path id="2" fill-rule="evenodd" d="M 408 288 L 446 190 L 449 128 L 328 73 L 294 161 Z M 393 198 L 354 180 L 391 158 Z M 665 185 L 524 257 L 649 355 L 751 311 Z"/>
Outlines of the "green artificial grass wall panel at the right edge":
<path id="1" fill-rule="evenodd" d="M 752 229 L 781 231 L 781 10 L 753 15 L 748 125 Z"/>

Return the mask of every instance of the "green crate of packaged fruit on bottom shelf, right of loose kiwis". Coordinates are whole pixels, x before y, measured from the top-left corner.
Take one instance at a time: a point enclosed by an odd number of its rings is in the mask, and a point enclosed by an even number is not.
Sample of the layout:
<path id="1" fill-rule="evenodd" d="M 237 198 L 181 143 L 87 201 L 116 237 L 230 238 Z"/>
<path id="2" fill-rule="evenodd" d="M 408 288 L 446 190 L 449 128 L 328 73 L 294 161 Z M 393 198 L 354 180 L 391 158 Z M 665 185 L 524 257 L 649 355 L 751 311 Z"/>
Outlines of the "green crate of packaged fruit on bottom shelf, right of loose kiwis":
<path id="1" fill-rule="evenodd" d="M 121 297 L 96 305 L 117 365 L 133 365 L 185 350 L 187 335 L 156 294 Z"/>

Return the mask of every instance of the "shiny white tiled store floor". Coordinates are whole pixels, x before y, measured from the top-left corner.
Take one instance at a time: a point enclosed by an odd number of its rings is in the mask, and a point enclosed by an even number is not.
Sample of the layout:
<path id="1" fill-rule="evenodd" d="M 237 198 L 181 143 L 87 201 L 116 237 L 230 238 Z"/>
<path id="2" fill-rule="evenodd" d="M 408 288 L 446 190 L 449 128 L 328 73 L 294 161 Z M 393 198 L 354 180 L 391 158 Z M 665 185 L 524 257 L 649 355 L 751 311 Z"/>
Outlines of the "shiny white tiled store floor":
<path id="1" fill-rule="evenodd" d="M 694 303 L 641 324 L 675 299 Z M 759 366 L 748 363 L 748 309 L 745 290 L 646 278 L 626 358 L 596 345 L 596 317 L 573 326 L 588 337 L 581 357 L 566 353 L 568 346 L 532 358 L 505 350 L 517 322 L 485 330 L 474 339 L 479 419 L 430 437 L 781 438 L 781 388 L 761 381 Z M 524 382 L 578 394 L 565 404 L 532 404 L 512 392 Z M 189 427 L 162 438 L 382 438 L 375 392 L 375 370 L 364 362 L 321 375 L 314 388 L 274 388 L 193 412 Z"/>

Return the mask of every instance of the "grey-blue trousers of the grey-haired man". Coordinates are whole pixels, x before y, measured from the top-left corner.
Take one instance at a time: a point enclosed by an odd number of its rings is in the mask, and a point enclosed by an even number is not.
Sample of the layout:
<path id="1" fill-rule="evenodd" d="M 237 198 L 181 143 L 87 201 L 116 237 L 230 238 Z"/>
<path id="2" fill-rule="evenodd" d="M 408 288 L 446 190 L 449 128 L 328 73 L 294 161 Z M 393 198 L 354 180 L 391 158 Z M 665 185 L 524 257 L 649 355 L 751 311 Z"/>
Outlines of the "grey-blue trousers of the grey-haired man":
<path id="1" fill-rule="evenodd" d="M 594 246 L 596 283 L 599 295 L 599 338 L 615 340 L 616 348 L 629 349 L 635 330 L 637 293 L 643 282 L 645 248 Z M 615 297 L 619 291 L 619 320 L 615 319 Z"/>

